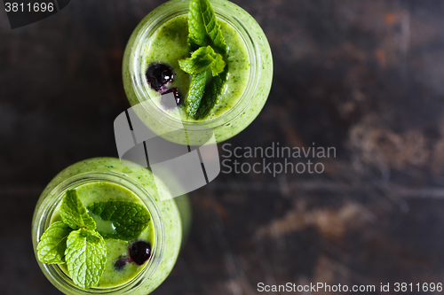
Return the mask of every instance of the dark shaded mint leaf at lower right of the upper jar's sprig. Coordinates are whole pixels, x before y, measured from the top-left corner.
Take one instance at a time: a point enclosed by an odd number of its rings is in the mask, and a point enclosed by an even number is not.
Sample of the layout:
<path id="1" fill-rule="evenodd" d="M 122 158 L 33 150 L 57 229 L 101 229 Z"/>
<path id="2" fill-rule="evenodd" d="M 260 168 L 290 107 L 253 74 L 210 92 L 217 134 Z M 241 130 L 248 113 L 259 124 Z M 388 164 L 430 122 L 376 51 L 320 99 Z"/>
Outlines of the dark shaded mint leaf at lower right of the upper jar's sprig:
<path id="1" fill-rule="evenodd" d="M 208 113 L 210 113 L 214 105 L 216 105 L 218 102 L 218 96 L 222 92 L 226 82 L 226 74 L 227 70 L 211 79 L 211 82 L 205 88 L 201 105 L 199 105 L 199 109 L 194 116 L 195 119 L 205 118 Z"/>

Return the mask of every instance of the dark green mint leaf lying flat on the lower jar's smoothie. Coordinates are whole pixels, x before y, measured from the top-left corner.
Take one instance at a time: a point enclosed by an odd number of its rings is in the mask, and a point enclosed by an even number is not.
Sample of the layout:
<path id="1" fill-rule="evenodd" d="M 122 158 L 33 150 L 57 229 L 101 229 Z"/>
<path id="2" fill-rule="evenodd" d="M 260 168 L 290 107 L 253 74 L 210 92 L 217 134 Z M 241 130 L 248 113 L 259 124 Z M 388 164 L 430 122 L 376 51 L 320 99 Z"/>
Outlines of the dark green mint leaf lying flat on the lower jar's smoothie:
<path id="1" fill-rule="evenodd" d="M 107 201 L 88 206 L 88 211 L 102 221 L 112 221 L 114 232 L 98 228 L 106 238 L 132 241 L 147 229 L 151 216 L 145 206 L 130 201 Z"/>

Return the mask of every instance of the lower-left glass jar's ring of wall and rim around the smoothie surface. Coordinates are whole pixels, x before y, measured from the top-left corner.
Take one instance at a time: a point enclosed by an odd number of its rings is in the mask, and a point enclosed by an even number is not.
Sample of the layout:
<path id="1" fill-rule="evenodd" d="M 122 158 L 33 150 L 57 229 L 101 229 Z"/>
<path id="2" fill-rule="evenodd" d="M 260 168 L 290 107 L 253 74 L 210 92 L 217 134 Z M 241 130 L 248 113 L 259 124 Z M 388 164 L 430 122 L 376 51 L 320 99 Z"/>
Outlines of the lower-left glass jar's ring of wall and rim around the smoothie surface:
<path id="1" fill-rule="evenodd" d="M 154 226 L 152 256 L 144 268 L 130 281 L 112 288 L 94 288 L 88 291 L 78 288 L 72 279 L 59 268 L 58 264 L 45 264 L 38 260 L 44 276 L 65 294 L 135 294 L 142 295 L 154 291 L 173 268 L 182 243 L 182 235 L 187 231 L 190 220 L 190 207 L 186 196 L 179 197 L 181 206 L 173 198 L 160 201 L 155 187 L 155 177 L 150 170 L 137 167 L 134 163 L 125 165 L 115 158 L 86 159 L 67 167 L 55 176 L 39 198 L 32 224 L 32 241 L 37 258 L 37 244 L 52 221 L 52 214 L 59 206 L 67 190 L 78 188 L 91 182 L 108 182 L 122 186 L 139 197 L 151 214 Z M 129 167 L 131 166 L 131 167 Z M 163 191 L 163 193 L 165 193 Z"/>

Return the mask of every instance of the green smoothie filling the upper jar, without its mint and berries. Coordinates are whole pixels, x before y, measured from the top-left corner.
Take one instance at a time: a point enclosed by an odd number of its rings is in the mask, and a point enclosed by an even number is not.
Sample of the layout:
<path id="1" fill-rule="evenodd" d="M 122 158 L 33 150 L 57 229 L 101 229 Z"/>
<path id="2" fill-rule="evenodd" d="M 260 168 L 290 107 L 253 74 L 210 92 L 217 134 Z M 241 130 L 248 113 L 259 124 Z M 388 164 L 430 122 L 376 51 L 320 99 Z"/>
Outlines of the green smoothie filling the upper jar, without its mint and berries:
<path id="1" fill-rule="evenodd" d="M 171 0 L 150 12 L 135 28 L 123 55 L 123 86 L 134 112 L 157 135 L 178 144 L 202 145 L 213 134 L 216 142 L 235 136 L 258 116 L 271 89 L 272 52 L 258 22 L 232 2 L 210 0 L 210 5 L 227 45 L 226 52 L 213 46 L 226 62 L 227 76 L 204 117 L 186 115 L 193 74 L 178 63 L 196 51 L 187 39 L 189 0 Z M 147 81 L 152 65 L 171 68 L 174 79 L 163 87 L 178 89 L 178 106 L 163 104 L 165 89 Z M 175 133 L 178 129 L 185 130 L 186 140 Z"/>

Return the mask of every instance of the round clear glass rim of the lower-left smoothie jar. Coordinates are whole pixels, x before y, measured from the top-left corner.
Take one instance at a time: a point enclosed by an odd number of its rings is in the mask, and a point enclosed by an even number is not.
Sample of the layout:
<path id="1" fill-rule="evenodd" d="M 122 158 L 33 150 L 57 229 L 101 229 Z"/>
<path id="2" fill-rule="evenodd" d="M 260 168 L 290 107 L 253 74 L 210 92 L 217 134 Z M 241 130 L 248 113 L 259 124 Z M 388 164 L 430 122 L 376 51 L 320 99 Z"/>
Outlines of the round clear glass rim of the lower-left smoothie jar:
<path id="1" fill-rule="evenodd" d="M 123 188 L 130 190 L 135 196 L 137 196 L 139 200 L 147 207 L 147 210 L 151 215 L 151 220 L 153 221 L 155 232 L 155 241 L 152 247 L 152 254 L 151 258 L 147 261 L 147 265 L 139 272 L 137 276 L 134 276 L 126 283 L 109 288 L 91 287 L 91 289 L 85 291 L 75 286 L 72 279 L 67 276 L 67 274 L 61 268 L 59 268 L 59 265 L 46 264 L 38 260 L 38 258 L 37 262 L 40 268 L 42 268 L 44 276 L 46 276 L 52 282 L 52 284 L 59 289 L 59 291 L 66 294 L 131 294 L 131 292 L 136 291 L 142 283 L 153 276 L 155 269 L 159 266 L 163 257 L 165 233 L 161 214 L 155 204 L 155 199 L 147 192 L 147 190 L 143 189 L 139 183 L 134 182 L 130 178 L 123 177 L 123 175 L 113 172 L 86 172 L 70 176 L 65 181 L 60 182 L 48 193 L 47 197 L 39 207 L 38 212 L 36 212 L 36 216 L 39 216 L 39 218 L 36 221 L 36 230 L 33 229 L 33 244 L 35 244 L 35 252 L 37 241 L 40 239 L 40 237 L 42 237 L 44 230 L 51 225 L 52 215 L 55 209 L 59 206 L 65 192 L 67 190 L 93 182 L 109 182 L 123 186 Z"/>

